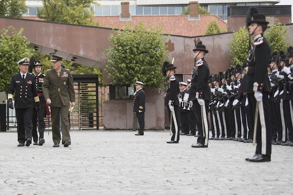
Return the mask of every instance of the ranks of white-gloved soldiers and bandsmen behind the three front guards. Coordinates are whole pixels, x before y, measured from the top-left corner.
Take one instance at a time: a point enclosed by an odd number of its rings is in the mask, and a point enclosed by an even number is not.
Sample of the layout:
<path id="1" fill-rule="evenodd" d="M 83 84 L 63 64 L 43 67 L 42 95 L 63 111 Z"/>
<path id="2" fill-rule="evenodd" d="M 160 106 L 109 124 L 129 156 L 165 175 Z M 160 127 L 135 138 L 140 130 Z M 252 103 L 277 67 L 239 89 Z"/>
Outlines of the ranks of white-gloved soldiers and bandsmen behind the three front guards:
<path id="1" fill-rule="evenodd" d="M 210 76 L 209 118 L 211 137 L 214 140 L 237 140 L 252 142 L 252 111 L 248 107 L 247 94 L 240 94 L 242 75 L 246 67 L 236 65 L 227 71 Z M 293 146 L 293 50 L 273 52 L 268 64 L 271 81 L 270 113 L 272 126 L 272 144 Z M 192 102 L 188 102 L 188 82 L 180 82 L 178 95 L 181 119 L 180 135 L 197 136 L 196 117 Z"/>

